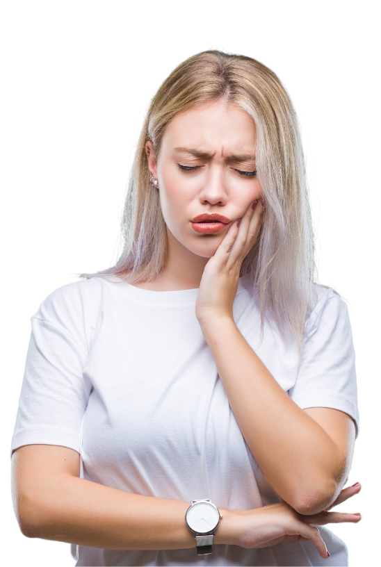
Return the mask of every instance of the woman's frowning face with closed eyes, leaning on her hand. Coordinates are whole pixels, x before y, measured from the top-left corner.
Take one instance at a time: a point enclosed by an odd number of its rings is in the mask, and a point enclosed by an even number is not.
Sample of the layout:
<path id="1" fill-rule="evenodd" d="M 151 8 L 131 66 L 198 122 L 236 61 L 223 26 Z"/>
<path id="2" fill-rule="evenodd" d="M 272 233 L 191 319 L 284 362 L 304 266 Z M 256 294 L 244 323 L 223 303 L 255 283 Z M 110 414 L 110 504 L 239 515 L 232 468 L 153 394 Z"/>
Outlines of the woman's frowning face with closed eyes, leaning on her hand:
<path id="1" fill-rule="evenodd" d="M 177 115 L 164 131 L 157 160 L 152 142 L 147 142 L 149 171 L 158 181 L 158 189 L 153 190 L 159 190 L 167 225 L 169 270 L 175 262 L 177 274 L 181 270 L 197 273 L 196 279 L 191 274 L 189 277 L 200 282 L 204 266 L 232 222 L 261 197 L 259 181 L 253 174 L 255 145 L 252 118 L 220 101 Z M 230 222 L 218 233 L 197 233 L 192 220 L 202 213 L 218 213 Z"/>

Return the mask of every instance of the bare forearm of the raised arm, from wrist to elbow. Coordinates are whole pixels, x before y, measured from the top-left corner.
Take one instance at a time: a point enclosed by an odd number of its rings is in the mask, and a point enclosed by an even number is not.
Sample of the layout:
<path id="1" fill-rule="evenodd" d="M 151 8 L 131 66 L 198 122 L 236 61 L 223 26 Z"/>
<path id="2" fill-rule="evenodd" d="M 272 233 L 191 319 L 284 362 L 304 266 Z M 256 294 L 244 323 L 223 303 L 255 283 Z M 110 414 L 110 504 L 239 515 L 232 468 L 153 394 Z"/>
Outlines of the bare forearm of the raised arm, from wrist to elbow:
<path id="1" fill-rule="evenodd" d="M 309 513 L 325 498 L 328 505 L 337 463 L 330 436 L 284 392 L 234 321 L 204 323 L 202 332 L 236 421 L 268 482 L 298 511 Z"/>

